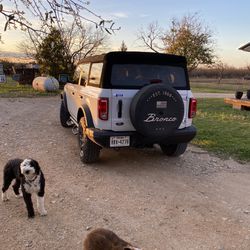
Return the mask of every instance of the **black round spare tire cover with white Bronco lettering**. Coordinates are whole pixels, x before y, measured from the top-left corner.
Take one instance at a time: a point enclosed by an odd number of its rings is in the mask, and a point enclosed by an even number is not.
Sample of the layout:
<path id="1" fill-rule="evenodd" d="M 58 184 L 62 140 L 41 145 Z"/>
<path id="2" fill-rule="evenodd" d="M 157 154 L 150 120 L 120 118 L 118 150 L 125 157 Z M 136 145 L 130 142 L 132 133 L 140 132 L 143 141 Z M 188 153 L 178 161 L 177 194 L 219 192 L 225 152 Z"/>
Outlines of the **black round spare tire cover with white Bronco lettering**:
<path id="1" fill-rule="evenodd" d="M 134 96 L 130 119 L 135 129 L 148 137 L 164 137 L 178 128 L 184 115 L 180 94 L 171 86 L 151 84 Z"/>

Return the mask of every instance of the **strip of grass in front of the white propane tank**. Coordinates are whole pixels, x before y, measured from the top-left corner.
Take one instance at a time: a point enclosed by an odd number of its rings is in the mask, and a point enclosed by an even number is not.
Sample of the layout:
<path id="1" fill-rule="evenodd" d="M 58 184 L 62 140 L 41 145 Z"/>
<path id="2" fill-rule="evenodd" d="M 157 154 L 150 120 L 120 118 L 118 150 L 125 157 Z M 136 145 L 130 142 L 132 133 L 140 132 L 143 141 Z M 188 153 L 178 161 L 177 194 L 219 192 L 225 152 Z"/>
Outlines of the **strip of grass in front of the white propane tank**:
<path id="1" fill-rule="evenodd" d="M 55 96 L 59 91 L 43 92 L 33 89 L 31 85 L 20 85 L 10 77 L 6 83 L 0 83 L 0 97 L 36 97 L 36 96 Z"/>

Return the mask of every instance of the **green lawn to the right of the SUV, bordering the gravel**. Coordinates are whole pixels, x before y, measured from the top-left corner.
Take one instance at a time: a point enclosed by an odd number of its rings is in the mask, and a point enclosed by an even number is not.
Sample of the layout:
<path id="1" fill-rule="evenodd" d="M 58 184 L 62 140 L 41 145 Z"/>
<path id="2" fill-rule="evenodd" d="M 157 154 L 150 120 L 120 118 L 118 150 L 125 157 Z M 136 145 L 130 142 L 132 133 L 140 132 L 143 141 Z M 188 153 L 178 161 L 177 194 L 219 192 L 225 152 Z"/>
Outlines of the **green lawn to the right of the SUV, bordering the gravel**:
<path id="1" fill-rule="evenodd" d="M 250 111 L 232 109 L 223 99 L 198 99 L 194 145 L 223 157 L 250 161 Z"/>

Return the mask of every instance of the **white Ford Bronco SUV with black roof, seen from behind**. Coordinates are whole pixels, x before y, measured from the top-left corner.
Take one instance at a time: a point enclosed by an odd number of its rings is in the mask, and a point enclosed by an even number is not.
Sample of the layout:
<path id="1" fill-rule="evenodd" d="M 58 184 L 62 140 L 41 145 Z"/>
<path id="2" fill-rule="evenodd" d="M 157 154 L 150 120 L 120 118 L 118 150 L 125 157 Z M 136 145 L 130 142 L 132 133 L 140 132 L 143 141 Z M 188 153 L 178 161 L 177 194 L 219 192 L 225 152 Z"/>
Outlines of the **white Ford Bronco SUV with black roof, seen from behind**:
<path id="1" fill-rule="evenodd" d="M 159 144 L 164 154 L 179 156 L 196 135 L 196 99 L 181 56 L 110 52 L 85 58 L 61 99 L 61 124 L 78 134 L 84 163 L 97 161 L 104 147 Z"/>

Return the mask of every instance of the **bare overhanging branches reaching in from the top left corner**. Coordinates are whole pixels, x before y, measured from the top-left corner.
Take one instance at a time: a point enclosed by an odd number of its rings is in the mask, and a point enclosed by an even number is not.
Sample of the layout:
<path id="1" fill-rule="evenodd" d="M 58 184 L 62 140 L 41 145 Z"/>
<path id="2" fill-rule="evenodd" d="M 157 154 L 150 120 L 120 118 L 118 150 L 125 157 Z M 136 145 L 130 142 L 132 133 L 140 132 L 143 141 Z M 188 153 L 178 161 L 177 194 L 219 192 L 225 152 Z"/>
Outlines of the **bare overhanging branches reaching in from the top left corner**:
<path id="1" fill-rule="evenodd" d="M 106 20 L 91 11 L 89 8 L 90 1 L 6 0 L 6 2 L 11 2 L 13 9 L 5 9 L 5 0 L 0 0 L 0 14 L 6 19 L 5 31 L 19 27 L 23 31 L 30 30 L 37 34 L 48 33 L 52 26 L 61 30 L 67 20 L 74 21 L 80 28 L 83 23 L 92 23 L 96 28 L 100 28 L 109 34 L 120 29 L 120 27 L 115 27 L 112 20 Z"/>

